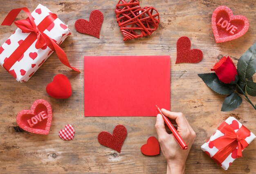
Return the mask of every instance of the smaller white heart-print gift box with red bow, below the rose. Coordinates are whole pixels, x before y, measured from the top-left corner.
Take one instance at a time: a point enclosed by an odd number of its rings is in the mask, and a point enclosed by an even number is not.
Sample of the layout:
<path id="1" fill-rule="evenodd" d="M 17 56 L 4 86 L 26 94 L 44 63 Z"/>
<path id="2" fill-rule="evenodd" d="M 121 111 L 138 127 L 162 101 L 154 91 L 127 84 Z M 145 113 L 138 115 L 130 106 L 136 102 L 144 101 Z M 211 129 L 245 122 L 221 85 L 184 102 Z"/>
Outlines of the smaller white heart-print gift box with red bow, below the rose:
<path id="1" fill-rule="evenodd" d="M 201 148 L 227 170 L 236 158 L 242 157 L 242 151 L 254 138 L 255 135 L 250 130 L 234 117 L 229 117 Z"/>

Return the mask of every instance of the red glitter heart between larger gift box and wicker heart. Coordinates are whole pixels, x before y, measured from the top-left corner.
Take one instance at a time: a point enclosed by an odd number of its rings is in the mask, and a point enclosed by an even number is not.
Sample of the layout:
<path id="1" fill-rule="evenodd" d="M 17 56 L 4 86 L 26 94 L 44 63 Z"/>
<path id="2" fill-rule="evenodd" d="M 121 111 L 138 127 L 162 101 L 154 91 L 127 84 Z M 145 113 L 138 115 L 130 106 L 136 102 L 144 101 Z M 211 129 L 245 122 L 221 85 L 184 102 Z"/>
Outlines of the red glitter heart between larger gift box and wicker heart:
<path id="1" fill-rule="evenodd" d="M 99 38 L 103 19 L 104 16 L 101 11 L 94 10 L 90 14 L 89 21 L 85 19 L 76 20 L 75 29 L 79 33 L 88 34 Z"/>

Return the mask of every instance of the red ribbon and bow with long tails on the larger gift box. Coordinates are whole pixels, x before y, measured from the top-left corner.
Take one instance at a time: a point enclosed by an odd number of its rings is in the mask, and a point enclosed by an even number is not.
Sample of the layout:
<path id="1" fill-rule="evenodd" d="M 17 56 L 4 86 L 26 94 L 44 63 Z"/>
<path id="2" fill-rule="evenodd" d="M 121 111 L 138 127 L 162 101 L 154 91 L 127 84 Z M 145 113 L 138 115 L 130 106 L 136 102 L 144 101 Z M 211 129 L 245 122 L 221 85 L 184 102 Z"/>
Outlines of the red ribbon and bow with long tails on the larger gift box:
<path id="1" fill-rule="evenodd" d="M 42 48 L 43 46 L 47 45 L 49 48 L 51 48 L 53 51 L 56 51 L 58 58 L 61 60 L 61 62 L 70 68 L 72 68 L 75 71 L 80 72 L 78 69 L 72 67 L 70 63 L 68 62 L 67 56 L 63 49 L 61 49 L 54 40 L 52 40 L 49 36 L 47 36 L 43 31 L 47 29 L 47 27 L 54 22 L 58 17 L 56 14 L 52 13 L 49 14 L 43 19 L 38 26 L 36 26 L 34 22 L 34 18 L 32 17 L 31 13 L 26 7 L 18 8 L 18 9 L 12 9 L 1 25 L 11 25 L 17 15 L 20 13 L 20 11 L 23 10 L 27 13 L 28 18 L 27 20 L 18 20 L 14 22 L 18 28 L 22 30 L 23 33 L 30 33 L 28 37 L 18 46 L 18 48 L 10 55 L 10 57 L 4 62 L 3 67 L 9 71 L 13 64 L 17 62 L 17 60 L 21 57 L 23 53 L 31 46 L 33 42 L 36 41 L 36 49 Z"/>

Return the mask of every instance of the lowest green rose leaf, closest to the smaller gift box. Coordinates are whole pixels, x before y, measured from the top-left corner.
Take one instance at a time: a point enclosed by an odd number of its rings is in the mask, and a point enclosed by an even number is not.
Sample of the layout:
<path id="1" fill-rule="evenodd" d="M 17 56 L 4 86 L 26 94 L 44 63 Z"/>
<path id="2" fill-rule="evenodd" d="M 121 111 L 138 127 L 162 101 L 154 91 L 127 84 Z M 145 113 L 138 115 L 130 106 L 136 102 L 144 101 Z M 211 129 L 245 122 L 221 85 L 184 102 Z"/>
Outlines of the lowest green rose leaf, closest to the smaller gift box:
<path id="1" fill-rule="evenodd" d="M 238 108 L 238 106 L 240 106 L 241 103 L 242 103 L 242 98 L 237 93 L 232 93 L 231 95 L 228 95 L 225 98 L 222 104 L 221 111 L 227 112 L 227 111 L 234 110 Z"/>

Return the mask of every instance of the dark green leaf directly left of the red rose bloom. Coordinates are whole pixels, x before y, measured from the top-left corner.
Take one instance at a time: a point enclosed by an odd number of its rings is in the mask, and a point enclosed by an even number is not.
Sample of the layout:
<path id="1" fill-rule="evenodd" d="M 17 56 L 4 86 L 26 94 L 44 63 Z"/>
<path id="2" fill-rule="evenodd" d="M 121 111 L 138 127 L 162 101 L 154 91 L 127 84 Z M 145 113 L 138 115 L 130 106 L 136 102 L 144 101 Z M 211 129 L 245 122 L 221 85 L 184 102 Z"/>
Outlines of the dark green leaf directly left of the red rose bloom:
<path id="1" fill-rule="evenodd" d="M 222 83 L 215 73 L 198 74 L 198 76 L 216 93 L 229 95 L 236 89 L 236 85 Z"/>

